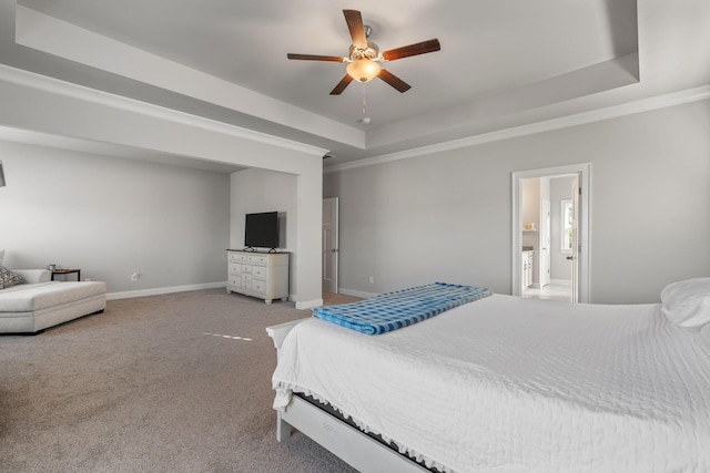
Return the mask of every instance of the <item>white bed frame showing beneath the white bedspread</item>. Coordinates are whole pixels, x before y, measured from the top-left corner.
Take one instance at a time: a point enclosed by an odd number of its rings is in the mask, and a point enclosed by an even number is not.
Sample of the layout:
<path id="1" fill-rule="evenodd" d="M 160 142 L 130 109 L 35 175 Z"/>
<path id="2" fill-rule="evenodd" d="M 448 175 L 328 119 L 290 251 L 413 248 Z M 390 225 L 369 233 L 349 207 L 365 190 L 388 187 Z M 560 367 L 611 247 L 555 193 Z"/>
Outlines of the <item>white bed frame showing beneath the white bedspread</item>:
<path id="1" fill-rule="evenodd" d="M 266 333 L 274 340 L 277 353 L 286 335 L 303 320 L 307 319 L 266 328 Z M 286 409 L 277 411 L 276 415 L 278 442 L 288 439 L 295 429 L 361 472 L 430 473 L 430 470 L 408 456 L 297 395 L 292 397 Z"/>

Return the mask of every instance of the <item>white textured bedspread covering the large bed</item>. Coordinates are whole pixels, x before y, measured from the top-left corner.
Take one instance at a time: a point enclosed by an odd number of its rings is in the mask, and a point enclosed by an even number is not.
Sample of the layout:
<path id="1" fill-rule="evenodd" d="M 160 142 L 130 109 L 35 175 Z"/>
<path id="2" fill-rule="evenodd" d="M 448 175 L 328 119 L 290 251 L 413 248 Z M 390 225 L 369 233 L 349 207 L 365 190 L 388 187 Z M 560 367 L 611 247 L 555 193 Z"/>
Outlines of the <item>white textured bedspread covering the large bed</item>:
<path id="1" fill-rule="evenodd" d="M 710 333 L 659 307 L 494 295 L 381 336 L 310 319 L 274 408 L 311 394 L 447 472 L 708 472 Z"/>

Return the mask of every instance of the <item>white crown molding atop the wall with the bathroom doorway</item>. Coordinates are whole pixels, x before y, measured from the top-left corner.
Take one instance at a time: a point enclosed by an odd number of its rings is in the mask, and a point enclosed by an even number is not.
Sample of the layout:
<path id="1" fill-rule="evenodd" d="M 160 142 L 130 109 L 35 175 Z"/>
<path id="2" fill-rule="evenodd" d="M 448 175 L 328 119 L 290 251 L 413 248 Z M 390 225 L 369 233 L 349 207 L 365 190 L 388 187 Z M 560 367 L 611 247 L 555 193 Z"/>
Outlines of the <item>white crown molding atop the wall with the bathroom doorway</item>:
<path id="1" fill-rule="evenodd" d="M 697 102 L 710 99 L 710 85 L 702 85 L 694 89 L 687 89 L 679 92 L 672 92 L 663 95 L 656 95 L 648 99 L 641 99 L 620 105 L 608 106 L 605 109 L 594 110 L 590 112 L 577 113 L 562 116 L 559 119 L 546 120 L 542 122 L 530 123 L 528 125 L 514 126 L 510 128 L 499 130 L 480 135 L 468 136 L 465 138 L 453 140 L 445 143 L 437 143 L 429 146 L 422 146 L 413 150 L 402 151 L 397 153 L 383 154 L 381 156 L 367 157 L 351 163 L 335 164 L 323 168 L 323 174 L 335 173 L 338 171 L 354 169 L 357 167 L 373 166 L 376 164 L 390 163 L 393 161 L 407 160 L 410 157 L 423 156 L 427 154 L 440 153 L 450 150 L 476 146 L 484 143 L 491 143 L 503 140 L 509 140 L 518 136 L 532 135 L 537 133 L 550 132 L 555 130 L 567 128 L 571 126 L 584 125 L 587 123 L 601 122 L 605 120 L 617 119 L 636 113 L 650 112 L 658 109 L 666 109 L 684 103 Z"/>

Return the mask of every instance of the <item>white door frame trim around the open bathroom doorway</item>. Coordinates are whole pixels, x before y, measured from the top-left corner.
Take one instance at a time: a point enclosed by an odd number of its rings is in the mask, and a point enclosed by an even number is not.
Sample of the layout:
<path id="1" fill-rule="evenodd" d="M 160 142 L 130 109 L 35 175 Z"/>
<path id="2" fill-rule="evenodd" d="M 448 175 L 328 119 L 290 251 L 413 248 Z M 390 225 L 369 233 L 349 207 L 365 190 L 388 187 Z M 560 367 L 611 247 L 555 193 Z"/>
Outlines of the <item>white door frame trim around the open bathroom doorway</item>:
<path id="1" fill-rule="evenodd" d="M 520 296 L 521 281 L 520 281 L 520 251 L 523 248 L 523 192 L 520 189 L 520 181 L 535 178 L 535 177 L 548 177 L 559 175 L 574 175 L 579 176 L 580 192 L 580 218 L 579 218 L 579 294 L 578 299 L 580 302 L 589 302 L 590 297 L 590 255 L 591 255 L 591 226 L 590 226 L 590 195 L 591 195 L 591 163 L 570 164 L 566 166 L 546 167 L 539 169 L 516 171 L 511 173 L 513 184 L 513 219 L 511 219 L 511 256 L 513 256 L 513 277 L 511 277 L 511 291 L 514 296 Z"/>

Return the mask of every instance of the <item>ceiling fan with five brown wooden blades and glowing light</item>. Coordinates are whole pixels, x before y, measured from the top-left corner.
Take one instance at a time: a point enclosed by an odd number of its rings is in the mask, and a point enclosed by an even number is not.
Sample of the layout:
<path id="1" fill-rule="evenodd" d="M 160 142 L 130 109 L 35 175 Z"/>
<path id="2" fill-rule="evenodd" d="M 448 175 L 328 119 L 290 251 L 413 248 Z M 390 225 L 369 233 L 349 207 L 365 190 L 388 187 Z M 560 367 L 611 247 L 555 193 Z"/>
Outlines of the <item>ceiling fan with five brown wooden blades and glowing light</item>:
<path id="1" fill-rule="evenodd" d="M 377 44 L 367 41 L 369 27 L 363 24 L 363 17 L 357 10 L 343 10 L 347 29 L 351 32 L 353 44 L 346 58 L 335 55 L 316 54 L 294 54 L 288 53 L 288 59 L 305 61 L 346 62 L 346 74 L 331 91 L 331 95 L 339 95 L 345 88 L 355 79 L 359 82 L 369 82 L 379 78 L 399 92 L 406 92 L 412 86 L 397 78 L 392 72 L 383 69 L 379 63 L 384 61 L 395 61 L 397 59 L 409 58 L 410 55 L 425 54 L 427 52 L 439 51 L 442 49 L 439 40 L 433 39 L 419 43 L 395 48 L 385 52 L 379 52 Z"/>

